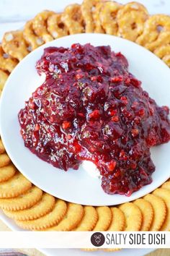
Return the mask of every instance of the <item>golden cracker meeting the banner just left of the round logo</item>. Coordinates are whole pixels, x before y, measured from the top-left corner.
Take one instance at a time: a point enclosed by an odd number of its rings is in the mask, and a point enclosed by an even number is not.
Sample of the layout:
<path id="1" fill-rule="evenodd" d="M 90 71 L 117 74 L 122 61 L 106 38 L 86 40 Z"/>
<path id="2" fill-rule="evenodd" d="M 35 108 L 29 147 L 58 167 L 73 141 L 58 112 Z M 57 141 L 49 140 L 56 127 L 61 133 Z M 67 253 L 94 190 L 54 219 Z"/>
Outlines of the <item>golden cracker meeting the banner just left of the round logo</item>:
<path id="1" fill-rule="evenodd" d="M 97 210 L 93 206 L 84 206 L 84 216 L 74 231 L 91 231 L 97 223 Z"/>

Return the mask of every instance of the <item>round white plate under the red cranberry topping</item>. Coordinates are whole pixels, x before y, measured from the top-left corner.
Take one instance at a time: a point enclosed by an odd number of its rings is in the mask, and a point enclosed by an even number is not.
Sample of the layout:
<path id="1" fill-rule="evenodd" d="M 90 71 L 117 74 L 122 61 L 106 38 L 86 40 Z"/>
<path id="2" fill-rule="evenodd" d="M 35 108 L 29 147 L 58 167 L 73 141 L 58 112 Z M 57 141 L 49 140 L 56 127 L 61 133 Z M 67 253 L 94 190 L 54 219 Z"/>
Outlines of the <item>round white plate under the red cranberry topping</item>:
<path id="1" fill-rule="evenodd" d="M 30 98 L 40 85 L 35 63 L 42 56 L 43 49 L 48 46 L 69 47 L 72 43 L 91 43 L 94 46 L 111 46 L 114 51 L 121 51 L 128 58 L 130 72 L 143 82 L 143 89 L 161 105 L 170 103 L 170 71 L 160 59 L 145 48 L 128 40 L 104 34 L 70 35 L 37 48 L 26 56 L 14 69 L 6 82 L 1 96 L 0 126 L 1 137 L 7 153 L 19 171 L 37 187 L 55 197 L 83 205 L 116 205 L 146 195 L 169 178 L 170 143 L 152 150 L 152 159 L 156 165 L 153 182 L 143 187 L 132 196 L 107 195 L 100 186 L 100 180 L 94 179 L 80 168 L 61 171 L 37 158 L 24 148 L 19 135 L 17 114 L 24 107 L 24 101 Z"/>

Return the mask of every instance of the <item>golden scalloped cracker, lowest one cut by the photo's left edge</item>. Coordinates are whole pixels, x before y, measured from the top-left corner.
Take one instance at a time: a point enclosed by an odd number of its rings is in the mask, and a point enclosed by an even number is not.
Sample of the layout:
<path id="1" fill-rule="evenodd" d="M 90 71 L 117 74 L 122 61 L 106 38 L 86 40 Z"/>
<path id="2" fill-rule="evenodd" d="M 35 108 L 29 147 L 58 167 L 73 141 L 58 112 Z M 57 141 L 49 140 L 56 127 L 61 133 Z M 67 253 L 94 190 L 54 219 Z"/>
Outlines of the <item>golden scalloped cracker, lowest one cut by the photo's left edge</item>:
<path id="1" fill-rule="evenodd" d="M 42 190 L 34 186 L 18 197 L 1 198 L 0 208 L 3 210 L 24 210 L 35 205 L 41 197 Z"/>

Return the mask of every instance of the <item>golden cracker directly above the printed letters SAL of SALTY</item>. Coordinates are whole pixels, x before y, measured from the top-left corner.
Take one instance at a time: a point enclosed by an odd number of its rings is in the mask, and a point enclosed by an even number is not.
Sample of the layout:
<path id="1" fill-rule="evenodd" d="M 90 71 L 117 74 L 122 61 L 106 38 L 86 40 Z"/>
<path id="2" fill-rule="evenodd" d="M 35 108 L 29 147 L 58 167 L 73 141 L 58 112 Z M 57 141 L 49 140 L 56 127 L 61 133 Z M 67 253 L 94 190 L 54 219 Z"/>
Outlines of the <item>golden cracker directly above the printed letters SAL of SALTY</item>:
<path id="1" fill-rule="evenodd" d="M 120 208 L 111 207 L 112 221 L 107 231 L 123 231 L 125 229 L 125 215 Z"/>

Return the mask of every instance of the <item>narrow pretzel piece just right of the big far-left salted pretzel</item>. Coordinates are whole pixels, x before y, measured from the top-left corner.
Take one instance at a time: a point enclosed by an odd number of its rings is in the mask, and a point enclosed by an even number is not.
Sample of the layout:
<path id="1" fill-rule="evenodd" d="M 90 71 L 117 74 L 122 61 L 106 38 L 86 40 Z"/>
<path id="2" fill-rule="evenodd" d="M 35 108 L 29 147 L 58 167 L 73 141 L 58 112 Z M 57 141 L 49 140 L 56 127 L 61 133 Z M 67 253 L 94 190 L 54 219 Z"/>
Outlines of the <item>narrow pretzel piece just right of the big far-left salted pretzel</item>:
<path id="1" fill-rule="evenodd" d="M 33 27 L 32 27 L 32 20 L 29 20 L 24 25 L 24 39 L 27 43 L 31 46 L 31 50 L 35 50 L 35 48 L 41 46 L 44 41 L 42 38 L 35 35 Z"/>

